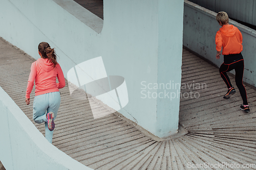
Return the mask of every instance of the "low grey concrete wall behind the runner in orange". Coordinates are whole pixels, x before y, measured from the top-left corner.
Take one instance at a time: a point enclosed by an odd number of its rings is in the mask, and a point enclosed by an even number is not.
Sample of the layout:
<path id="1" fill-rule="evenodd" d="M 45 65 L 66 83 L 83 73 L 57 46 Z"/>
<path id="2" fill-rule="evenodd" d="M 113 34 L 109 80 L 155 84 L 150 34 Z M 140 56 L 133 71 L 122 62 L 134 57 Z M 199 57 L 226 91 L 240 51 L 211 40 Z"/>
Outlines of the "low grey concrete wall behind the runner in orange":
<path id="1" fill-rule="evenodd" d="M 216 21 L 217 13 L 207 10 L 189 1 L 184 2 L 183 45 L 197 54 L 220 66 L 223 55 L 216 59 L 215 35 L 221 28 Z M 256 85 L 256 31 L 240 23 L 229 20 L 243 35 L 244 79 L 248 84 Z M 234 71 L 231 71 L 234 74 Z"/>

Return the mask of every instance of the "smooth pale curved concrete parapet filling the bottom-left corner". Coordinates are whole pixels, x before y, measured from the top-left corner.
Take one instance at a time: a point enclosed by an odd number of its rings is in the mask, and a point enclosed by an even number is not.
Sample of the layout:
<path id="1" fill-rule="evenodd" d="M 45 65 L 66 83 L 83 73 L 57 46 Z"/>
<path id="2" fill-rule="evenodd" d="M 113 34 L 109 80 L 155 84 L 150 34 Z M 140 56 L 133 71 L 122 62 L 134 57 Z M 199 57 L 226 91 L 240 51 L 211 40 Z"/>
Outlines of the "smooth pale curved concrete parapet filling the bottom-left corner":
<path id="1" fill-rule="evenodd" d="M 42 135 L 0 87 L 0 160 L 6 169 L 84 169 Z"/>

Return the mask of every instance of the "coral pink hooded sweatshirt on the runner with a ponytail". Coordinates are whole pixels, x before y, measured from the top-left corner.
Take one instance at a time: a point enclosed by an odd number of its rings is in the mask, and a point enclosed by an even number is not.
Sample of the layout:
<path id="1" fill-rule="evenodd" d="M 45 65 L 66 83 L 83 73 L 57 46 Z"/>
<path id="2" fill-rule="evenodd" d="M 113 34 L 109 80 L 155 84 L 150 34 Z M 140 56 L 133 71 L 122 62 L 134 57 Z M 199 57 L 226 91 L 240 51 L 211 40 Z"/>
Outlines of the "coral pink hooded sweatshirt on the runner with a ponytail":
<path id="1" fill-rule="evenodd" d="M 56 83 L 56 77 L 58 78 L 59 83 Z M 66 85 L 60 65 L 57 64 L 56 67 L 53 67 L 53 63 L 49 62 L 48 59 L 42 58 L 39 58 L 31 65 L 26 99 L 30 98 L 34 81 L 35 95 L 56 92 L 59 91 L 59 88 L 63 88 Z"/>

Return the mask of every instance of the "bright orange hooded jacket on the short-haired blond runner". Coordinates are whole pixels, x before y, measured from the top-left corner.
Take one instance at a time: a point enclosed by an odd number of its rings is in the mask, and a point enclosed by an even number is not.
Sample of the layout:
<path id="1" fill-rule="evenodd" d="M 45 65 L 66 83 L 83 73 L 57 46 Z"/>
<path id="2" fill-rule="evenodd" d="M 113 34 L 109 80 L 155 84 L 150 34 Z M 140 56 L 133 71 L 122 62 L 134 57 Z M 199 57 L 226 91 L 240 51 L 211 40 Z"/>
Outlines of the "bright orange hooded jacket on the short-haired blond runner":
<path id="1" fill-rule="evenodd" d="M 223 55 L 239 54 L 243 51 L 243 37 L 237 27 L 233 25 L 224 25 L 217 32 L 215 37 L 216 50 L 218 52 L 222 49 Z"/>

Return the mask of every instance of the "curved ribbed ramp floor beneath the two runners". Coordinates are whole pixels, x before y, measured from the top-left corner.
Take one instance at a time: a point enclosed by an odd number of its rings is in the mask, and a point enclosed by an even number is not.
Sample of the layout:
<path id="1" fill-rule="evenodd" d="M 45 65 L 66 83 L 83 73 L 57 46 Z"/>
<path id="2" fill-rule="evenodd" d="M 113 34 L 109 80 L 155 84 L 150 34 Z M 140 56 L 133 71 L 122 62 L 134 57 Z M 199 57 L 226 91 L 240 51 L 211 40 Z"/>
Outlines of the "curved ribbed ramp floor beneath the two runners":
<path id="1" fill-rule="evenodd" d="M 25 104 L 33 61 L 0 39 L 0 86 L 34 123 L 32 105 Z M 244 114 L 239 110 L 242 99 L 236 86 L 237 93 L 229 100 L 223 99 L 227 89 L 216 67 L 186 50 L 183 50 L 182 62 L 182 83 L 191 84 L 190 89 L 183 86 L 181 90 L 185 98 L 183 96 L 180 101 L 180 124 L 188 131 L 185 136 L 155 141 L 115 114 L 94 119 L 91 109 L 99 112 L 108 110 L 97 102 L 91 108 L 89 102 L 70 98 L 66 86 L 60 89 L 61 106 L 53 145 L 84 165 L 104 170 L 207 169 L 206 163 L 209 166 L 222 163 L 230 166 L 208 169 L 245 169 L 243 164 L 255 165 L 255 90 L 245 86 L 251 111 Z M 233 78 L 231 82 L 235 85 Z M 186 92 L 200 97 L 186 98 Z M 31 103 L 33 96 L 34 92 L 31 93 Z M 35 126 L 42 134 L 45 133 L 44 125 Z M 197 164 L 204 167 L 189 168 Z M 238 164 L 240 168 L 232 167 L 238 167 Z"/>

